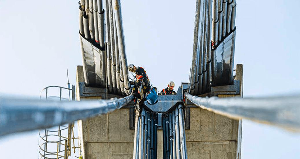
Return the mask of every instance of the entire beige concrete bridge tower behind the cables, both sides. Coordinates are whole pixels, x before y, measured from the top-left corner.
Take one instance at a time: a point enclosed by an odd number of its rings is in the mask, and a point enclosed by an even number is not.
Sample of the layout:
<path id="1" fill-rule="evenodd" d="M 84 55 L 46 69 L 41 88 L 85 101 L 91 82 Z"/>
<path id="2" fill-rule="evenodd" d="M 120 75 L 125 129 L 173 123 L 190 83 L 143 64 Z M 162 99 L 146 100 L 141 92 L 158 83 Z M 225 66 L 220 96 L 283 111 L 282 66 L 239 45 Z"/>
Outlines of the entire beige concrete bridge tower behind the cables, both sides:
<path id="1" fill-rule="evenodd" d="M 242 97 L 243 67 L 237 64 L 233 85 L 211 87 L 203 96 Z M 77 66 L 76 99 L 118 98 L 106 88 L 84 85 L 83 67 Z M 128 104 L 111 113 L 78 121 L 79 142 L 83 158 L 133 158 L 134 105 Z M 229 119 L 199 108 L 187 101 L 186 144 L 188 158 L 239 159 L 241 153 L 241 120 Z M 163 158 L 163 131 L 157 132 L 157 158 Z"/>

